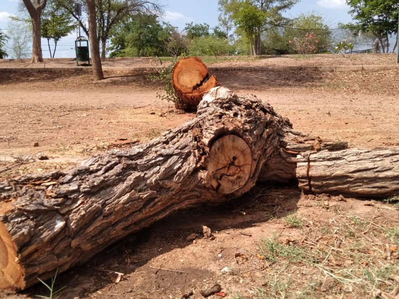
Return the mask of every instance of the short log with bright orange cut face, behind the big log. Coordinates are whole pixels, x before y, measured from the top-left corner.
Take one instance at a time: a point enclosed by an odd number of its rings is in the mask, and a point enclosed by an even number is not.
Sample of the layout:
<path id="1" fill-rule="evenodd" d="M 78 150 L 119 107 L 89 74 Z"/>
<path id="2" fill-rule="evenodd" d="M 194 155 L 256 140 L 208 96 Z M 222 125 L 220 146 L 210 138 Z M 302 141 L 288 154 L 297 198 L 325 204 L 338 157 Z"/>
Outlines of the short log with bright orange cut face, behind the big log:
<path id="1" fill-rule="evenodd" d="M 202 97 L 211 88 L 220 85 L 214 75 L 209 75 L 207 67 L 198 57 L 184 57 L 176 62 L 172 84 L 178 97 L 175 106 L 186 112 L 197 111 Z"/>

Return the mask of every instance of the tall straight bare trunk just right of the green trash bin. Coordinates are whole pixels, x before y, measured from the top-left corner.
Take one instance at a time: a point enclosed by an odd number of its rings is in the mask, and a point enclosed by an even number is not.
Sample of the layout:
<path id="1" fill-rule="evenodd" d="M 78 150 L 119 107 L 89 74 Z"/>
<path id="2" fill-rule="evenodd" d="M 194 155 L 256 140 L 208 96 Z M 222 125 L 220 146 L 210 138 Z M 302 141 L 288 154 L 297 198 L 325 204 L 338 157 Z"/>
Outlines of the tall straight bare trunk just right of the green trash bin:
<path id="1" fill-rule="evenodd" d="M 94 0 L 86 0 L 87 2 L 87 16 L 89 20 L 89 41 L 91 49 L 91 65 L 93 69 L 94 81 L 104 79 L 103 69 L 101 66 L 100 47 L 97 38 L 97 21 L 96 21 L 96 6 Z"/>

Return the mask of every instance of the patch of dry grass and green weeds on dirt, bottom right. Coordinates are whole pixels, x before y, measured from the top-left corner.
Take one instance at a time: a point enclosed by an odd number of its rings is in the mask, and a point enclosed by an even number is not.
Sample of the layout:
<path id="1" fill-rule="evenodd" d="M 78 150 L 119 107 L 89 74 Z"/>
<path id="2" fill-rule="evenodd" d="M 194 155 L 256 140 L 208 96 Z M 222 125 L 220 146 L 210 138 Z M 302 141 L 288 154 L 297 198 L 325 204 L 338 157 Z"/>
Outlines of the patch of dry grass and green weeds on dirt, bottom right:
<path id="1" fill-rule="evenodd" d="M 296 214 L 287 217 L 287 223 L 301 223 Z M 299 219 L 302 225 L 258 243 L 255 257 L 267 261 L 267 271 L 254 298 L 365 298 L 389 295 L 399 284 L 399 227 L 344 213 L 306 226 Z"/>

